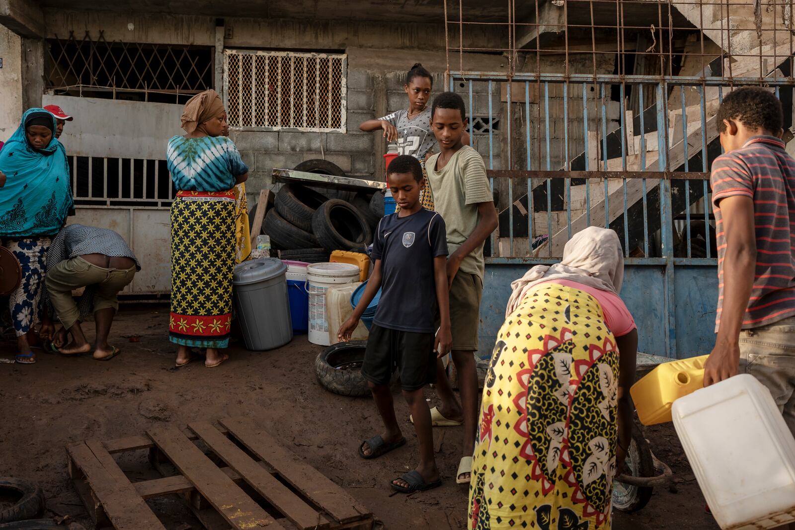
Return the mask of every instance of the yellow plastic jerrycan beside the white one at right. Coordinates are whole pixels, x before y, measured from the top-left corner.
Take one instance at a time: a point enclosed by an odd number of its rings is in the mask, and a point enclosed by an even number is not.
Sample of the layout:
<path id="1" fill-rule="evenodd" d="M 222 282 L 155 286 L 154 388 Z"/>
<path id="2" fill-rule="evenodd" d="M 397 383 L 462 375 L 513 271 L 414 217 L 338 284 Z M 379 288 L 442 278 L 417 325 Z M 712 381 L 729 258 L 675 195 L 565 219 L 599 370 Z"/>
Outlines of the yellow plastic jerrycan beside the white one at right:
<path id="1" fill-rule="evenodd" d="M 671 421 L 671 405 L 680 397 L 704 387 L 704 362 L 708 355 L 664 362 L 632 385 L 630 395 L 644 425 Z"/>

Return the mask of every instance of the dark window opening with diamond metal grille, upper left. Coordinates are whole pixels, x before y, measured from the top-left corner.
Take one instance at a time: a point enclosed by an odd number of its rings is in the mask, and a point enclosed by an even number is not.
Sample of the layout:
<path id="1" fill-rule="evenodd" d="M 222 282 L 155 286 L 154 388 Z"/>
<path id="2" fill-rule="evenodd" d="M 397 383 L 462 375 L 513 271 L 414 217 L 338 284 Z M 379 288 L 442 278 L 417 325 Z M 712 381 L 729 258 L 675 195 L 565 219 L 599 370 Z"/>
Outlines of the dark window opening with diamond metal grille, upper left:
<path id="1" fill-rule="evenodd" d="M 106 41 L 70 33 L 47 40 L 46 88 L 58 94 L 184 103 L 214 86 L 213 48 Z"/>

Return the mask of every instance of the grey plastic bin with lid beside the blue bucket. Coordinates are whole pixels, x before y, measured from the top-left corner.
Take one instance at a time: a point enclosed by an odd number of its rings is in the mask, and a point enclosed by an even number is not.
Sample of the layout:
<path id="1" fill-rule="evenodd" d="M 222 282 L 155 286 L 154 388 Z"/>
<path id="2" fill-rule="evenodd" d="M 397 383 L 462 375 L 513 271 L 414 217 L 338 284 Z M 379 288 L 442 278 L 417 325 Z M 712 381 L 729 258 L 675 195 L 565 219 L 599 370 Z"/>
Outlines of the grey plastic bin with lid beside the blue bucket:
<path id="1" fill-rule="evenodd" d="M 235 310 L 249 350 L 272 350 L 293 339 L 286 272 L 287 265 L 275 257 L 235 267 Z"/>

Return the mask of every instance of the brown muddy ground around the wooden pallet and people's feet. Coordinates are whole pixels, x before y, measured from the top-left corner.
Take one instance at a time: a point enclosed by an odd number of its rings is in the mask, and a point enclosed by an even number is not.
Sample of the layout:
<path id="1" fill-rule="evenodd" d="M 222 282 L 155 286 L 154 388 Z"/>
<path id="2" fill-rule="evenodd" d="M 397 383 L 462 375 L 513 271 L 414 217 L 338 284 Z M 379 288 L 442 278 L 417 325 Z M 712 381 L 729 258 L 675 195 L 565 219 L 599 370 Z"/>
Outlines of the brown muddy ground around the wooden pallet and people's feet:
<path id="1" fill-rule="evenodd" d="M 388 482 L 412 469 L 417 451 L 399 395 L 397 416 L 409 443 L 385 457 L 363 461 L 356 449 L 362 439 L 378 433 L 378 414 L 372 400 L 337 396 L 317 383 L 314 361 L 320 346 L 305 336 L 262 353 L 238 344 L 219 368 L 193 362 L 173 370 L 176 348 L 168 342 L 167 323 L 166 306 L 122 306 L 112 337 L 123 351 L 110 362 L 40 352 L 32 366 L 0 364 L 0 476 L 37 482 L 47 497 L 49 516 L 72 516 L 94 528 L 68 479 L 66 443 L 138 435 L 164 422 L 184 427 L 195 420 L 250 416 L 347 489 L 384 528 L 466 528 L 467 489 L 453 480 L 460 427 L 444 429 L 437 454 L 444 485 L 409 497 L 393 495 Z M 0 357 L 12 353 L 10 343 L 0 342 Z M 427 397 L 436 399 L 432 389 Z M 615 513 L 613 528 L 718 528 L 704 513 L 704 498 L 671 424 L 649 428 L 646 437 L 657 457 L 672 467 L 674 485 L 655 489 L 638 513 Z M 120 465 L 134 481 L 157 476 L 146 469 L 145 451 L 121 458 Z M 176 495 L 148 502 L 166 528 L 203 528 Z"/>

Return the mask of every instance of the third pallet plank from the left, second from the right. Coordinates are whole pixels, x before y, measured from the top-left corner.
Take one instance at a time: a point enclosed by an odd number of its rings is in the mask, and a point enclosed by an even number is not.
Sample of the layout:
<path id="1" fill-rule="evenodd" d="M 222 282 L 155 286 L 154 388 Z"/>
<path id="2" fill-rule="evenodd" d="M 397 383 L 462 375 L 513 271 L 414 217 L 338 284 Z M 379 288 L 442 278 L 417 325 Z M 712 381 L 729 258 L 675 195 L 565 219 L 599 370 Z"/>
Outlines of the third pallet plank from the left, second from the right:
<path id="1" fill-rule="evenodd" d="M 210 447 L 211 451 L 226 462 L 233 470 L 237 471 L 249 486 L 270 502 L 282 515 L 298 528 L 328 528 L 328 521 L 322 523 L 318 513 L 295 493 L 287 489 L 273 475 L 262 469 L 245 452 L 235 446 L 230 439 L 222 435 L 218 429 L 207 421 L 188 424 L 188 428 L 195 432 L 200 439 Z"/>

